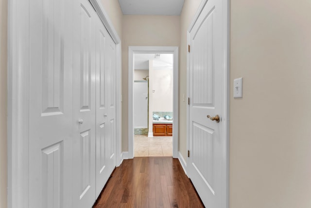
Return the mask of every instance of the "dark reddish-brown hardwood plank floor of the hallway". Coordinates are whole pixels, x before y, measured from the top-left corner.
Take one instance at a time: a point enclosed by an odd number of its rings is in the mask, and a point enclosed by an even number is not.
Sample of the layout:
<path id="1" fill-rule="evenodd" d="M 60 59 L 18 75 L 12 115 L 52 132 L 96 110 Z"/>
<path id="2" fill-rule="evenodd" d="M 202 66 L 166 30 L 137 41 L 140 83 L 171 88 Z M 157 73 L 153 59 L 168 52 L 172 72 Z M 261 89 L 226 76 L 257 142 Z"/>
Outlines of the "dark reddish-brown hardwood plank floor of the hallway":
<path id="1" fill-rule="evenodd" d="M 204 208 L 178 159 L 135 157 L 112 173 L 93 208 Z"/>

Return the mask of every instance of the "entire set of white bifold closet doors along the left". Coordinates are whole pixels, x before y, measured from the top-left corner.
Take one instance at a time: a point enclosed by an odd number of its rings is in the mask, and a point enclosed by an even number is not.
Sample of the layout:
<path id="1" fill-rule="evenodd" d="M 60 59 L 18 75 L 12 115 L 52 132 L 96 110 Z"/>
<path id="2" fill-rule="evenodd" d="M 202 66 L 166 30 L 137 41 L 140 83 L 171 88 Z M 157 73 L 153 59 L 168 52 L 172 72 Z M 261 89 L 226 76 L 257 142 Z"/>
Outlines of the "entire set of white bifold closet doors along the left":
<path id="1" fill-rule="evenodd" d="M 91 208 L 116 164 L 116 44 L 88 0 L 29 9 L 29 208 Z"/>

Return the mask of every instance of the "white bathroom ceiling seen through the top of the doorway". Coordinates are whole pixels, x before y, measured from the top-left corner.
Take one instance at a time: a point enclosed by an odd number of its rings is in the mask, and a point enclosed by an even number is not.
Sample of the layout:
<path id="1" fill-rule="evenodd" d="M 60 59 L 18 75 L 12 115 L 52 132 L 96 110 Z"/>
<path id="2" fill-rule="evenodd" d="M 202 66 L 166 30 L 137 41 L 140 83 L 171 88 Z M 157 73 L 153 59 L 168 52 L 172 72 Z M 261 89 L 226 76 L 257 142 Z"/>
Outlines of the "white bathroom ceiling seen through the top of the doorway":
<path id="1" fill-rule="evenodd" d="M 135 54 L 134 69 L 148 70 L 149 60 L 154 60 L 154 67 L 157 68 L 172 68 L 173 69 L 173 54 L 161 54 L 160 58 L 155 58 L 155 54 Z"/>

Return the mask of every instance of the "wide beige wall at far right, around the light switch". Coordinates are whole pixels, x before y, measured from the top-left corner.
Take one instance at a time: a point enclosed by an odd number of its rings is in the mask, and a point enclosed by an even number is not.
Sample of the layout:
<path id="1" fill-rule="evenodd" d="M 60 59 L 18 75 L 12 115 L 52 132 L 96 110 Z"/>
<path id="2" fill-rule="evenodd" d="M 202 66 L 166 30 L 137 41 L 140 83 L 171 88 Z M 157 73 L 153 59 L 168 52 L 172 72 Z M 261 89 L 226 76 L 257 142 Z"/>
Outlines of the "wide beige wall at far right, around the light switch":
<path id="1" fill-rule="evenodd" d="M 311 207 L 311 1 L 231 1 L 230 208 Z"/>

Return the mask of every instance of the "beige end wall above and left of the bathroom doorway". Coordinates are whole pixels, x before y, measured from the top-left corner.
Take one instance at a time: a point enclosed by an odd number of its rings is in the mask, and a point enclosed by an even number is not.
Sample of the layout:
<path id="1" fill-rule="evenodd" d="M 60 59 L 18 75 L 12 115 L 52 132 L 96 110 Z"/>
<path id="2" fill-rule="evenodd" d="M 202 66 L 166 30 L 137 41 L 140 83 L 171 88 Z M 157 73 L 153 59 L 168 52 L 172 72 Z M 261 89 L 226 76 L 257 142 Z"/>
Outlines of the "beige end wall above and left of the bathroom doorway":
<path id="1" fill-rule="evenodd" d="M 128 151 L 128 46 L 179 46 L 180 18 L 124 15 L 122 24 L 122 151 Z"/>

